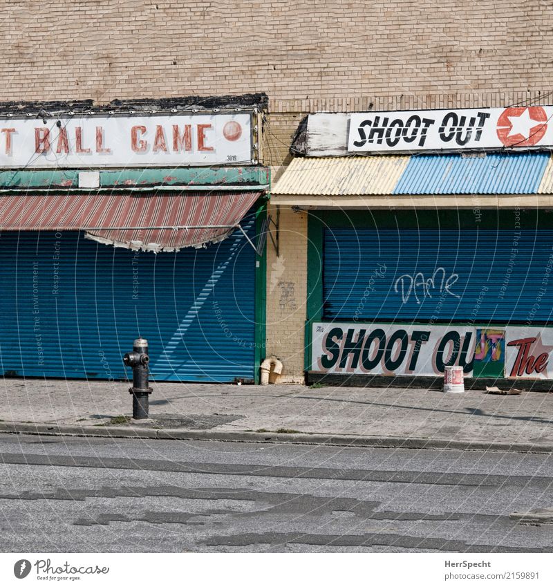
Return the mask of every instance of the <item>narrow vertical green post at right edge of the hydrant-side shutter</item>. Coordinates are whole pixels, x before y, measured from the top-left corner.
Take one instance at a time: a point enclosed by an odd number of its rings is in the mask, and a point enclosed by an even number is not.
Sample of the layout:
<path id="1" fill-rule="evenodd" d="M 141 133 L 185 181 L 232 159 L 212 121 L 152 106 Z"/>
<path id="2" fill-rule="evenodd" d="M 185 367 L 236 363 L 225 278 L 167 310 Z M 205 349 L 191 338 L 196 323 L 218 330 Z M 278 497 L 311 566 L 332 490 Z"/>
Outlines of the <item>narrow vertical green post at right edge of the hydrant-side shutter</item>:
<path id="1" fill-rule="evenodd" d="M 256 210 L 256 234 L 261 233 L 263 221 L 267 216 L 267 201 L 258 200 Z M 259 385 L 261 361 L 265 359 L 267 348 L 267 242 L 261 257 L 256 255 L 255 268 L 255 366 L 254 380 Z"/>

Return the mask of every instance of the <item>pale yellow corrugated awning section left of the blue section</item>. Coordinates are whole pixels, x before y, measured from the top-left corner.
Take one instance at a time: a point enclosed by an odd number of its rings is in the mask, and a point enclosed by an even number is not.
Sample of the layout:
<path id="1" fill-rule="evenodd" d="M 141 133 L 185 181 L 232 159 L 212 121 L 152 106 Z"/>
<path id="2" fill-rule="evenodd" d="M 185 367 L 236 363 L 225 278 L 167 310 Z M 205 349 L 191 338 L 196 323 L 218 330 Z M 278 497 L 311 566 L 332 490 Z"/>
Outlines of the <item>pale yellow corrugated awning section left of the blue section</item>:
<path id="1" fill-rule="evenodd" d="M 391 194 L 409 156 L 297 157 L 271 193 L 306 196 Z"/>

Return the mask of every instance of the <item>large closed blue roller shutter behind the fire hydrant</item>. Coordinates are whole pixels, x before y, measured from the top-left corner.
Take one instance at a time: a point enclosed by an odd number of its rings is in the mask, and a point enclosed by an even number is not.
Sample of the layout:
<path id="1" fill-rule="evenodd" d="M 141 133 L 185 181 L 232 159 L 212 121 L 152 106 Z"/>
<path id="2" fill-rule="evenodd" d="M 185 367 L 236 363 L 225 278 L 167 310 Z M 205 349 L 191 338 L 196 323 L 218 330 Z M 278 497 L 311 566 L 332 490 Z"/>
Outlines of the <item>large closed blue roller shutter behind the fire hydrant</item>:
<path id="1" fill-rule="evenodd" d="M 255 221 L 243 221 L 250 238 Z M 119 379 L 149 340 L 158 381 L 254 378 L 255 254 L 243 234 L 153 254 L 74 232 L 0 236 L 0 368 L 6 375 Z"/>

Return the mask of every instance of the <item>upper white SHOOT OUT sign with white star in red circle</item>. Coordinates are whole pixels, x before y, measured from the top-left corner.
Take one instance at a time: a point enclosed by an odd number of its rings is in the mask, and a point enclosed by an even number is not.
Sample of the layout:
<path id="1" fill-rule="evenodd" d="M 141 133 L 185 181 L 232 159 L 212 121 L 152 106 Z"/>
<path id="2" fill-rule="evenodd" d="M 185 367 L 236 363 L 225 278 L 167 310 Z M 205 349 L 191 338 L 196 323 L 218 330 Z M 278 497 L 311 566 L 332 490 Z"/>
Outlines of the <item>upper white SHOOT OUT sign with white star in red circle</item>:
<path id="1" fill-rule="evenodd" d="M 545 148 L 553 145 L 552 118 L 553 106 L 353 113 L 348 151 Z"/>

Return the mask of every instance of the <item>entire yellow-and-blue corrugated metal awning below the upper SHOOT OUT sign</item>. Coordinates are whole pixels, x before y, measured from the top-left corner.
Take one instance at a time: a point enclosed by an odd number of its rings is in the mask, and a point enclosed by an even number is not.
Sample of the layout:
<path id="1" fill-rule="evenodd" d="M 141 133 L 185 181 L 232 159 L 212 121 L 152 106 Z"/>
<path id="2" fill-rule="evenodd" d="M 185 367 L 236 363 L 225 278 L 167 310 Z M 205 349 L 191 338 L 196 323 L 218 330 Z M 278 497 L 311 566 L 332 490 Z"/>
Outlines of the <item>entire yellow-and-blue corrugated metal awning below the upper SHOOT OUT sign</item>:
<path id="1" fill-rule="evenodd" d="M 553 160 L 545 152 L 297 157 L 271 193 L 274 203 L 290 204 L 297 198 L 299 205 L 315 207 L 313 196 L 326 206 L 350 206 L 356 196 L 396 196 L 386 205 L 435 207 L 437 202 L 424 196 L 553 194 Z M 377 200 L 358 198 L 373 207 Z"/>

